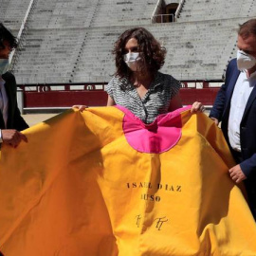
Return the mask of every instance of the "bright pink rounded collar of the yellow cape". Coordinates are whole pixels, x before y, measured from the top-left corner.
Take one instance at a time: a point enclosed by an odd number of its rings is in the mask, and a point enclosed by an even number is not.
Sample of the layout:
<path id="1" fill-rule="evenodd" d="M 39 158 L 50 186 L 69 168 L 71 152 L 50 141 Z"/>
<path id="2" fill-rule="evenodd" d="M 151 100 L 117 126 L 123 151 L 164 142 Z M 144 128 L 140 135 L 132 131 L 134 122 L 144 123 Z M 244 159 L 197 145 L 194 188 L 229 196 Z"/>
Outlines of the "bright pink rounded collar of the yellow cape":
<path id="1" fill-rule="evenodd" d="M 179 108 L 159 115 L 154 122 L 145 124 L 127 108 L 120 105 L 116 107 L 125 114 L 122 129 L 130 146 L 138 152 L 154 154 L 166 152 L 174 147 L 181 137 L 180 113 L 191 109 L 191 105 Z"/>

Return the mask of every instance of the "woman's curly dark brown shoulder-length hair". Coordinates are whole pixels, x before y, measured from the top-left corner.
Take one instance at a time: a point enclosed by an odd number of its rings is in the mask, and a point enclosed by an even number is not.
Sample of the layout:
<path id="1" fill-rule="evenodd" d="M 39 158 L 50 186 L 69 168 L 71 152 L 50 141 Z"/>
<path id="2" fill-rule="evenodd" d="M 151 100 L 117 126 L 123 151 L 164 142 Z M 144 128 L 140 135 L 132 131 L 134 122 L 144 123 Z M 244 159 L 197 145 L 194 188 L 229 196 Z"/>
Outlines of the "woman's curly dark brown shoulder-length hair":
<path id="1" fill-rule="evenodd" d="M 131 38 L 137 39 L 138 52 L 143 63 L 142 72 L 155 74 L 164 64 L 166 50 L 147 29 L 135 27 L 124 31 L 114 46 L 117 67 L 115 75 L 120 78 L 131 77 L 132 71 L 123 61 L 124 47 Z"/>

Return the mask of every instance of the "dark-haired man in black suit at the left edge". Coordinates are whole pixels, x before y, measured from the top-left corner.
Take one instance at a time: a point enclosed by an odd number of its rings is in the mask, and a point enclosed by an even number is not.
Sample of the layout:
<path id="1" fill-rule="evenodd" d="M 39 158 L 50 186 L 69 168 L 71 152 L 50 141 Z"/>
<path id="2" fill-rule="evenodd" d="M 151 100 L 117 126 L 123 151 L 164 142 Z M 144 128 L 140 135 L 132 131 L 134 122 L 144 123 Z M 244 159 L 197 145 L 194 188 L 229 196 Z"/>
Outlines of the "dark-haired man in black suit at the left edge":
<path id="1" fill-rule="evenodd" d="M 17 46 L 16 38 L 0 23 L 0 143 L 17 147 L 27 137 L 20 133 L 27 129 L 17 106 L 15 77 L 7 72 L 9 53 Z"/>

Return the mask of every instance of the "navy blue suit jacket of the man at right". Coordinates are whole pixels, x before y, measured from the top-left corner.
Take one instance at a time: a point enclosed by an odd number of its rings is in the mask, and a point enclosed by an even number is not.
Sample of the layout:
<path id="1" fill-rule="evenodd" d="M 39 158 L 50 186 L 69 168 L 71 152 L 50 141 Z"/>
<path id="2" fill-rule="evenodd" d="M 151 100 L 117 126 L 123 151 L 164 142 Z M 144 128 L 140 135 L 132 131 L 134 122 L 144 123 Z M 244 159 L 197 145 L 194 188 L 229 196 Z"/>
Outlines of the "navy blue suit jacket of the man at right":
<path id="1" fill-rule="evenodd" d="M 236 59 L 233 59 L 227 69 L 226 82 L 221 86 L 210 111 L 210 118 L 212 117 L 222 121 L 221 128 L 228 143 L 230 101 L 239 74 L 240 71 L 237 69 Z M 256 180 L 256 82 L 248 98 L 246 109 L 240 123 L 240 142 L 243 157 L 240 166 L 248 178 L 253 177 Z"/>

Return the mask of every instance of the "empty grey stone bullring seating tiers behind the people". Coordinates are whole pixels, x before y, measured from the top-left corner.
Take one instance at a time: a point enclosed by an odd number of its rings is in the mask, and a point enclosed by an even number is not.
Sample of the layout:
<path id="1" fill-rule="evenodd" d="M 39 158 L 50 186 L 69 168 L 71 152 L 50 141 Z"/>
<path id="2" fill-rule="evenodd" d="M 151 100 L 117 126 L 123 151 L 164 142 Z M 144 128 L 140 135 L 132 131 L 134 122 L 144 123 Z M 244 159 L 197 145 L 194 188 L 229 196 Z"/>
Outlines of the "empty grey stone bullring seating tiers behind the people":
<path id="1" fill-rule="evenodd" d="M 1 20 L 9 26 L 10 13 L 27 2 L 0 0 Z M 152 24 L 160 2 L 34 0 L 13 59 L 17 81 L 108 82 L 115 72 L 115 41 L 137 26 L 167 48 L 163 72 L 179 80 L 221 79 L 236 53 L 236 28 L 256 14 L 254 0 L 186 0 L 176 22 Z M 10 28 L 17 34 L 18 26 Z"/>

